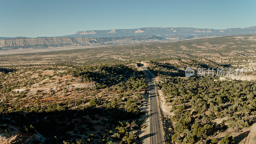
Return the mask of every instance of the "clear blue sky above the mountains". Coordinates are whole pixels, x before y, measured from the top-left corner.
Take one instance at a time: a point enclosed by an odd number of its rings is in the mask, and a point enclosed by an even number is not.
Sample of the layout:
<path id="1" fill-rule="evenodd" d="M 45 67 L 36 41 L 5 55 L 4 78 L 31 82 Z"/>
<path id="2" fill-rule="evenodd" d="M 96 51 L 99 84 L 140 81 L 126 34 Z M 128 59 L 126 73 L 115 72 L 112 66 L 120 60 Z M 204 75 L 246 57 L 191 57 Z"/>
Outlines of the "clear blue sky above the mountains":
<path id="1" fill-rule="evenodd" d="M 0 36 L 84 30 L 256 26 L 255 0 L 0 0 Z"/>

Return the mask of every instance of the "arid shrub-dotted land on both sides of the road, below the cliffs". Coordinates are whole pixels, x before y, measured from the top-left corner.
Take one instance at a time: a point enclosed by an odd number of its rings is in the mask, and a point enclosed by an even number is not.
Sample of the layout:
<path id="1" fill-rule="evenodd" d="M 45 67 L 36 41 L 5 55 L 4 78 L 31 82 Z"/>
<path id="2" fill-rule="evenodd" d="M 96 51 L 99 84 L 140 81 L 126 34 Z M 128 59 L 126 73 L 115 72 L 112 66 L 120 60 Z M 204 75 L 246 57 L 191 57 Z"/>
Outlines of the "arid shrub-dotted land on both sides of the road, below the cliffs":
<path id="1" fill-rule="evenodd" d="M 0 55 L 1 144 L 150 143 L 140 65 L 155 76 L 165 143 L 256 136 L 256 35 L 62 48 Z M 244 71 L 186 77 L 186 67 Z"/>

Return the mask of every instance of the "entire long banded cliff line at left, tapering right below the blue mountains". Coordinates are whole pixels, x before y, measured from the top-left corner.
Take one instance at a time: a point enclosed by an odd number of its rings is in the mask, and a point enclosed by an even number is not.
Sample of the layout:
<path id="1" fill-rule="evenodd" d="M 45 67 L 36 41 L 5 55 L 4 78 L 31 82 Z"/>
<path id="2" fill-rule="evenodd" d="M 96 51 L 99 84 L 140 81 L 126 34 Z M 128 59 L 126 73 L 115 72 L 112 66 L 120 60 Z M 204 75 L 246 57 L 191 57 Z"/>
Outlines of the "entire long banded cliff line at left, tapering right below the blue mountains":
<path id="1" fill-rule="evenodd" d="M 157 36 L 143 37 L 51 37 L 51 38 L 27 38 L 27 39 L 4 39 L 0 40 L 0 50 L 15 48 L 45 48 L 57 46 L 78 46 L 78 45 L 102 45 L 102 44 L 137 44 L 148 42 L 169 41 Z"/>

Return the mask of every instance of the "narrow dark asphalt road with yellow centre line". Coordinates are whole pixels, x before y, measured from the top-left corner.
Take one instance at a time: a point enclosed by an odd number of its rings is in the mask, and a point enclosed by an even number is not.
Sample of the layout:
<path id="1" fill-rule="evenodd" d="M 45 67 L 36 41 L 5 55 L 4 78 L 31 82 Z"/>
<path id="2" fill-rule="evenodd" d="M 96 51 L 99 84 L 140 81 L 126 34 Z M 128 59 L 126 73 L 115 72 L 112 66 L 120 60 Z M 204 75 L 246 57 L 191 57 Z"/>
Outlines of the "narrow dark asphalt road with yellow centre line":
<path id="1" fill-rule="evenodd" d="M 150 99 L 150 143 L 164 144 L 164 136 L 160 121 L 159 108 L 156 97 L 156 86 L 154 76 L 149 70 L 143 66 L 141 68 L 148 74 L 149 77 L 149 99 Z"/>

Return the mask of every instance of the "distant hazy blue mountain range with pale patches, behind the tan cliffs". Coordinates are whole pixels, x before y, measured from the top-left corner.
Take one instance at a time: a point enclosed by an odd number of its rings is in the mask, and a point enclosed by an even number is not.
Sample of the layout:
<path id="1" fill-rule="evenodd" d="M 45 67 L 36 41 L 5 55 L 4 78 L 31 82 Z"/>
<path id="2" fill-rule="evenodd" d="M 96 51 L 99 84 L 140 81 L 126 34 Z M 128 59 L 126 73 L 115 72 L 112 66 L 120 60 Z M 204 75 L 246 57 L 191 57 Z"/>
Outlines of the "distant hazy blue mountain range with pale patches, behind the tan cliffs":
<path id="1" fill-rule="evenodd" d="M 193 37 L 206 36 L 230 36 L 256 34 L 256 26 L 249 28 L 135 28 L 135 29 L 113 29 L 113 30 L 86 30 L 77 31 L 73 35 L 64 37 L 120 37 L 120 36 L 159 36 L 172 39 L 177 35 L 192 35 Z"/>

